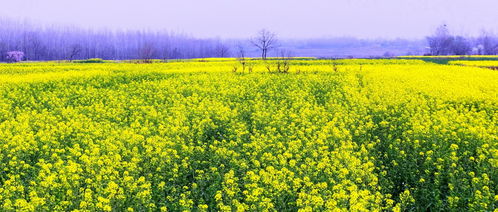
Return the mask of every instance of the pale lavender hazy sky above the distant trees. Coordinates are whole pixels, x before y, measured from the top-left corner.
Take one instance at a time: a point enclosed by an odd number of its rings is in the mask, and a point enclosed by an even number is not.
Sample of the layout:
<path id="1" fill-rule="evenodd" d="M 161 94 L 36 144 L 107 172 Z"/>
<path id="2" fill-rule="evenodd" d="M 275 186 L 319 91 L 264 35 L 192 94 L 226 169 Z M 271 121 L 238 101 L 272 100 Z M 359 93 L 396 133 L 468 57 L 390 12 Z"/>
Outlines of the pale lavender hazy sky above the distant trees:
<path id="1" fill-rule="evenodd" d="M 443 23 L 463 35 L 498 32 L 497 0 L 0 1 L 0 17 L 197 37 L 244 38 L 267 28 L 285 38 L 422 38 Z"/>

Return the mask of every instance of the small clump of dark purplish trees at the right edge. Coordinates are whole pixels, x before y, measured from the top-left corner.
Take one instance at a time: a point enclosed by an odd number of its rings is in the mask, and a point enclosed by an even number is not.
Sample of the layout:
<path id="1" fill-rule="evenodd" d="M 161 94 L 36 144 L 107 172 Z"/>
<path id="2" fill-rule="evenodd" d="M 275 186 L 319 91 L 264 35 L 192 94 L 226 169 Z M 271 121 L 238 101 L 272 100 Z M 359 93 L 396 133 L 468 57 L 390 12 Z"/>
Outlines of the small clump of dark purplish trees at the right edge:
<path id="1" fill-rule="evenodd" d="M 428 55 L 496 55 L 498 37 L 482 31 L 478 37 L 452 35 L 447 25 L 439 26 L 433 35 L 427 37 Z"/>

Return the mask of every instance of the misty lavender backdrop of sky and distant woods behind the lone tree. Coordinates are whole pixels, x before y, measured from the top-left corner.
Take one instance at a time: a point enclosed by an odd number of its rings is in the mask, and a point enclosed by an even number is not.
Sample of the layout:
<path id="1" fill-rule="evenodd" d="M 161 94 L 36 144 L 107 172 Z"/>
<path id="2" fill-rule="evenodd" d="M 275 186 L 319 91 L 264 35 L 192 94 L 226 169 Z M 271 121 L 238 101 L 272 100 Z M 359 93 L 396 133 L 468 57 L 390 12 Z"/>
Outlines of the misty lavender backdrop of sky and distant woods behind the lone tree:
<path id="1" fill-rule="evenodd" d="M 254 57 L 258 49 L 248 40 L 261 29 L 275 33 L 278 49 L 293 56 L 498 52 L 498 3 L 492 0 L 17 0 L 0 5 L 0 54 L 22 51 L 26 60 L 236 57 L 240 48 Z"/>

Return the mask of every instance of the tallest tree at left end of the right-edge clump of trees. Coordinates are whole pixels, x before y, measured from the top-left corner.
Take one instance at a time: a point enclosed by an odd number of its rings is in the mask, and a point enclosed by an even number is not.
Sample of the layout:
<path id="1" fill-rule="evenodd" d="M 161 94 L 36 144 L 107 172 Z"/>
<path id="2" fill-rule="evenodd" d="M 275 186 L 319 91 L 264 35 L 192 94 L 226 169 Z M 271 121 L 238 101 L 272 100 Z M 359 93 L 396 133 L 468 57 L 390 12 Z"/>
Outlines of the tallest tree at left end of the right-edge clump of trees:
<path id="1" fill-rule="evenodd" d="M 431 55 L 451 54 L 454 37 L 450 35 L 446 24 L 439 26 L 432 36 L 427 37 Z"/>

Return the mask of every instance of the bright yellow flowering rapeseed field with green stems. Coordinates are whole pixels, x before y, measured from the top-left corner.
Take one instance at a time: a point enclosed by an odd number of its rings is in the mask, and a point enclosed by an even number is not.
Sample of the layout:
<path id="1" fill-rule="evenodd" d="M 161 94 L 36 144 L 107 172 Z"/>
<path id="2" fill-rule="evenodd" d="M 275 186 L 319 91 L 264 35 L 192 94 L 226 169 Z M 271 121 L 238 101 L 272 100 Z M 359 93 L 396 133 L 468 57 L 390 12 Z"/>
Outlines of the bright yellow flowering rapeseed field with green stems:
<path id="1" fill-rule="evenodd" d="M 495 62 L 246 62 L 0 64 L 0 211 L 498 208 Z"/>

